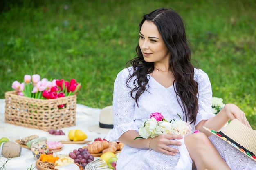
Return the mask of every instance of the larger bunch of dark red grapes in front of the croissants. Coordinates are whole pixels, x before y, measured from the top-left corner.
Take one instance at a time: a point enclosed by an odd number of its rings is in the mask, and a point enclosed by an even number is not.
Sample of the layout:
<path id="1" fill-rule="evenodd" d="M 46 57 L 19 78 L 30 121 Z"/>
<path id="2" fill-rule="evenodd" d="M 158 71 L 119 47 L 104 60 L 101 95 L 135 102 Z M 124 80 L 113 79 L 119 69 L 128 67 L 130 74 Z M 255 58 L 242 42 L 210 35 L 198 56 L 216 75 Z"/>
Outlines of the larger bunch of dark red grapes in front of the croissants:
<path id="1" fill-rule="evenodd" d="M 88 163 L 94 161 L 94 156 L 89 153 L 87 148 L 79 148 L 78 150 L 74 149 L 68 156 L 74 159 L 75 163 L 79 164 L 83 168 L 85 168 Z"/>

